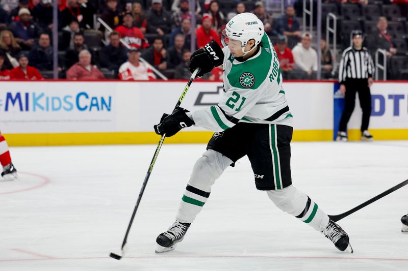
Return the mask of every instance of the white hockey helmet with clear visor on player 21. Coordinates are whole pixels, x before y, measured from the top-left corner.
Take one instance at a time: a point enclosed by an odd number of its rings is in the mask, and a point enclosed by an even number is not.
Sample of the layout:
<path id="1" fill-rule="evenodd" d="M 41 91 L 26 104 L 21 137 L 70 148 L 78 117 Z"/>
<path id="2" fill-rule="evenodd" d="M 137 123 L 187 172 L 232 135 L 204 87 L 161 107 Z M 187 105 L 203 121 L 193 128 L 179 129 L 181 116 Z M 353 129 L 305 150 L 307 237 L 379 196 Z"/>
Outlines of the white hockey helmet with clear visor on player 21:
<path id="1" fill-rule="evenodd" d="M 244 12 L 235 15 L 225 25 L 225 29 L 222 32 L 221 43 L 224 47 L 228 46 L 229 40 L 237 40 L 241 42 L 242 52 L 247 54 L 257 46 L 253 46 L 250 51 L 245 52 L 245 46 L 251 39 L 255 41 L 255 45 L 261 43 L 262 36 L 264 35 L 264 24 L 258 19 L 258 17 L 249 12 Z"/>

